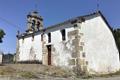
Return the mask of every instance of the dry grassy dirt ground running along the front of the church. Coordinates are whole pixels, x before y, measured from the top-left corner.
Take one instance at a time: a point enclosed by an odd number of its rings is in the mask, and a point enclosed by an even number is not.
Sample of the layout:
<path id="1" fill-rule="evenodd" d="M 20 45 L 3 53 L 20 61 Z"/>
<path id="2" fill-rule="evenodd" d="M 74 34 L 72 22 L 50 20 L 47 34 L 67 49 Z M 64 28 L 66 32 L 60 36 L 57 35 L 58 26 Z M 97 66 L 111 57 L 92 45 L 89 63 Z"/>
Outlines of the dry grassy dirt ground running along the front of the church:
<path id="1" fill-rule="evenodd" d="M 71 70 L 62 69 L 54 66 L 44 66 L 41 64 L 5 64 L 0 66 L 0 77 L 12 77 L 22 78 L 21 80 L 53 80 L 59 78 L 59 80 L 75 80 L 75 79 L 93 79 L 93 78 L 109 78 L 119 76 L 120 71 L 116 73 L 104 74 L 104 75 L 75 75 Z M 11 79 L 13 80 L 13 79 Z"/>

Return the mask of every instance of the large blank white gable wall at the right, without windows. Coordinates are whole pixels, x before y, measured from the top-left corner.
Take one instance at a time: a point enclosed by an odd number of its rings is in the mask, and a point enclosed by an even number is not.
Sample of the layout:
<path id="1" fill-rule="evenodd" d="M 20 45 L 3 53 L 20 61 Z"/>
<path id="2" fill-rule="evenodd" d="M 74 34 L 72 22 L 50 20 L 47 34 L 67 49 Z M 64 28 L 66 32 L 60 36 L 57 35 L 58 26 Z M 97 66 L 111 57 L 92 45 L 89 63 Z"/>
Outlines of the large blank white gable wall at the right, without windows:
<path id="1" fill-rule="evenodd" d="M 119 53 L 112 32 L 103 19 L 95 17 L 81 24 L 84 50 L 91 73 L 109 73 L 119 70 Z"/>

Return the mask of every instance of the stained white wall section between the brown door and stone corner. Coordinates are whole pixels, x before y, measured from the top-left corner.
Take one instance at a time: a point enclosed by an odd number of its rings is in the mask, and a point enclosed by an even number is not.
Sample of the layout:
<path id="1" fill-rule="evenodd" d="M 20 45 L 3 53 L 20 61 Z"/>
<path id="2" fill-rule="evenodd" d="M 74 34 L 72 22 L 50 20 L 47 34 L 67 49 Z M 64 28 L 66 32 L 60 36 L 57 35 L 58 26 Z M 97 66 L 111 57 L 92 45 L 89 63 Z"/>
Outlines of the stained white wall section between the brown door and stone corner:
<path id="1" fill-rule="evenodd" d="M 45 34 L 46 36 L 46 44 L 45 45 L 52 45 L 52 49 L 54 48 L 55 51 L 52 50 L 52 65 L 54 66 L 61 66 L 61 67 L 71 67 L 69 66 L 69 60 L 71 59 L 71 54 L 72 52 L 70 50 L 65 49 L 65 44 L 68 42 L 68 32 L 73 31 L 74 27 L 71 28 L 65 28 L 66 26 L 71 26 L 71 25 L 64 25 L 63 27 L 59 27 L 58 30 L 56 31 L 51 31 L 51 43 L 48 43 L 48 35 Z M 65 29 L 66 31 L 66 40 L 62 41 L 62 34 L 61 31 L 62 29 Z M 49 32 L 47 32 L 49 33 Z M 71 48 L 70 44 L 66 44 L 68 48 Z"/>

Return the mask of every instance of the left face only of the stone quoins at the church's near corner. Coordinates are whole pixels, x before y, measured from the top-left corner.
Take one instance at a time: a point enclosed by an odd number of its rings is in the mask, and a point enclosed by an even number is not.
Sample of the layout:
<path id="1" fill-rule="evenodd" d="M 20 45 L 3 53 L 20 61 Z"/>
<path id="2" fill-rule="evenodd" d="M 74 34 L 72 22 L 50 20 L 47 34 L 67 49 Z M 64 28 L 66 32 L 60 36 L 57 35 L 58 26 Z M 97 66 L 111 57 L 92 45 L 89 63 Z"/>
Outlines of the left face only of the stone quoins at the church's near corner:
<path id="1" fill-rule="evenodd" d="M 79 58 L 80 58 L 80 52 L 79 52 L 79 41 L 80 41 L 80 36 L 79 30 L 74 30 L 68 32 L 68 38 L 72 42 L 73 51 L 71 54 L 71 59 L 69 61 L 70 66 L 72 66 L 73 71 L 78 74 L 80 71 L 80 65 L 79 65 Z"/>

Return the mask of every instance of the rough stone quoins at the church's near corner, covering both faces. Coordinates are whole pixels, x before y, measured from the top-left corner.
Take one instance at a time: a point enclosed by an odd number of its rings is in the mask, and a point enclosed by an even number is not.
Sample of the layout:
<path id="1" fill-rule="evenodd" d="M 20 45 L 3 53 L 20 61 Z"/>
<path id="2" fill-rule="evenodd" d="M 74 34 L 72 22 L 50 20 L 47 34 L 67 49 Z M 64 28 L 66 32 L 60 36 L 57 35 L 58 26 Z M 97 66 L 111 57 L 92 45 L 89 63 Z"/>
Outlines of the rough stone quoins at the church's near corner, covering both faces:
<path id="1" fill-rule="evenodd" d="M 83 37 L 83 33 L 80 33 L 79 29 L 71 31 L 68 33 L 69 40 L 72 41 L 72 46 L 74 46 L 71 60 L 69 61 L 70 66 L 73 67 L 73 71 L 77 75 L 81 75 L 86 73 L 87 66 L 85 59 L 82 58 L 84 52 L 84 42 L 81 42 L 81 38 Z"/>

